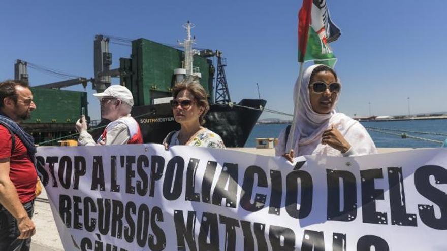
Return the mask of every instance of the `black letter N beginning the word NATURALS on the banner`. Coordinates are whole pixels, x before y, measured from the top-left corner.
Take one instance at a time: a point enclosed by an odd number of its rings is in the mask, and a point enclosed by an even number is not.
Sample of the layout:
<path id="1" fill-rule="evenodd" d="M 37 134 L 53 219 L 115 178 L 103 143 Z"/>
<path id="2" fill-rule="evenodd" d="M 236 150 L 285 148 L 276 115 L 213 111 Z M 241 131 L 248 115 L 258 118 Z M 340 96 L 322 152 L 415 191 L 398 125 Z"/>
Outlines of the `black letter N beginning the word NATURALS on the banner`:
<path id="1" fill-rule="evenodd" d="M 175 232 L 177 234 L 177 250 L 186 251 L 185 240 L 188 245 L 187 250 L 197 251 L 196 247 L 196 212 L 188 211 L 188 219 L 185 224 L 182 210 L 174 211 Z M 253 249 L 254 250 L 254 249 Z"/>

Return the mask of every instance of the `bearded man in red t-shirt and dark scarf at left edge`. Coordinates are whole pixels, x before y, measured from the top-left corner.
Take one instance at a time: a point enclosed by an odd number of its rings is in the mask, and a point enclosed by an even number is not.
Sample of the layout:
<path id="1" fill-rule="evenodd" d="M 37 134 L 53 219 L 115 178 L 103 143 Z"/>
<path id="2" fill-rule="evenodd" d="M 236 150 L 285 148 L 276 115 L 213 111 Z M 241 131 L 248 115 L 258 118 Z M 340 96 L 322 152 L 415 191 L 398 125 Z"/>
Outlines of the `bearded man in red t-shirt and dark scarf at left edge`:
<path id="1" fill-rule="evenodd" d="M 29 250 L 36 232 L 33 137 L 18 125 L 36 109 L 28 84 L 0 83 L 0 250 Z"/>

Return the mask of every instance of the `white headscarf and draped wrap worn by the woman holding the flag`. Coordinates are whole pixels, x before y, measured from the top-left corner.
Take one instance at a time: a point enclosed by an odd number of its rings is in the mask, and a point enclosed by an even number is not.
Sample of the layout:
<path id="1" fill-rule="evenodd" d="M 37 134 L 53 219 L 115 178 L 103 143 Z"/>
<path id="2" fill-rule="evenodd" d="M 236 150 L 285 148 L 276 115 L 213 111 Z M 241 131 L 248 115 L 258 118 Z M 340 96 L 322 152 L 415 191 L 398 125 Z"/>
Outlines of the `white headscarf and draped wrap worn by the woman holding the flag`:
<path id="1" fill-rule="evenodd" d="M 298 93 L 300 95 L 297 111 L 295 112 L 295 128 L 291 128 L 291 132 L 294 130 L 292 149 L 295 156 L 310 155 L 315 153 L 315 151 L 328 156 L 342 156 L 338 150 L 333 149 L 329 145 L 321 144 L 323 132 L 330 129 L 331 125 L 334 125 L 351 144 L 354 149 L 353 153 L 356 155 L 375 153 L 374 142 L 360 123 L 343 113 L 337 113 L 334 108 L 328 114 L 320 114 L 313 111 L 308 86 L 312 71 L 318 66 L 321 66 L 321 64 L 309 66 L 304 71 L 300 90 L 298 90 L 298 80 L 295 83 L 294 102 L 297 100 Z M 337 79 L 337 82 L 340 83 L 340 80 Z M 340 92 L 337 94 L 336 99 L 333 100 L 333 107 L 336 106 L 339 97 Z M 287 139 L 284 131 L 281 132 L 279 144 L 276 147 L 276 155 L 279 156 L 285 153 L 285 141 Z"/>

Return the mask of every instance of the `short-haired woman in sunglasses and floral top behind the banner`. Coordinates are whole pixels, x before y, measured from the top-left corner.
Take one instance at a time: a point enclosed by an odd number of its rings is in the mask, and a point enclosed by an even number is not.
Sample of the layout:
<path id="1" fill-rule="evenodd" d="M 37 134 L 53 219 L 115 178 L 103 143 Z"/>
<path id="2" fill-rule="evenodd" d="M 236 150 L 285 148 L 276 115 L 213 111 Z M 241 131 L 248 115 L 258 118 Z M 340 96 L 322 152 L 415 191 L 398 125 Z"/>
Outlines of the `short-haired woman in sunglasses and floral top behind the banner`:
<path id="1" fill-rule="evenodd" d="M 209 104 L 205 89 L 199 81 L 189 78 L 183 80 L 173 87 L 172 96 L 174 97 L 170 102 L 172 112 L 181 129 L 172 131 L 166 136 L 163 140 L 165 148 L 185 145 L 224 149 L 225 145 L 220 136 L 202 126 Z"/>

